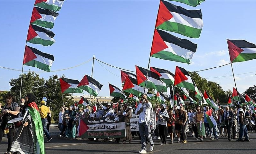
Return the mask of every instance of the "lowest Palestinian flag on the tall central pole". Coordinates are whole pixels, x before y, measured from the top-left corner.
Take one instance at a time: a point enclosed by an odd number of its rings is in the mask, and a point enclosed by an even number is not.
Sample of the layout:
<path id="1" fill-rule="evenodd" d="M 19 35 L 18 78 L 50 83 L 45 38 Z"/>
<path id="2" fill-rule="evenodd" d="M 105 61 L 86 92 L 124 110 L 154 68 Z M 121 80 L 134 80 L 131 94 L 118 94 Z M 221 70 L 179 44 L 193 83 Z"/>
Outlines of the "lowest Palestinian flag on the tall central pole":
<path id="1" fill-rule="evenodd" d="M 150 56 L 190 64 L 196 49 L 197 44 L 189 40 L 155 29 Z"/>

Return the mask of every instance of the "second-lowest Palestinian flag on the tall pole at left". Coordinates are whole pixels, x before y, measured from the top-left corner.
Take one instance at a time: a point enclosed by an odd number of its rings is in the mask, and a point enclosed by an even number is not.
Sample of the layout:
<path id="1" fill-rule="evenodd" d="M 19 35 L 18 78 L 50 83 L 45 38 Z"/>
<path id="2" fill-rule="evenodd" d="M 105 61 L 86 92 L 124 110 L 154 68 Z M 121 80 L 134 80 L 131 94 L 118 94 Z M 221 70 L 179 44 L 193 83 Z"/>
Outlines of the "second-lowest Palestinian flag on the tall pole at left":
<path id="1" fill-rule="evenodd" d="M 36 25 L 29 25 L 29 31 L 27 36 L 27 42 L 33 44 L 41 44 L 43 46 L 51 46 L 55 40 L 53 37 L 55 34 L 50 30 L 46 30 Z"/>

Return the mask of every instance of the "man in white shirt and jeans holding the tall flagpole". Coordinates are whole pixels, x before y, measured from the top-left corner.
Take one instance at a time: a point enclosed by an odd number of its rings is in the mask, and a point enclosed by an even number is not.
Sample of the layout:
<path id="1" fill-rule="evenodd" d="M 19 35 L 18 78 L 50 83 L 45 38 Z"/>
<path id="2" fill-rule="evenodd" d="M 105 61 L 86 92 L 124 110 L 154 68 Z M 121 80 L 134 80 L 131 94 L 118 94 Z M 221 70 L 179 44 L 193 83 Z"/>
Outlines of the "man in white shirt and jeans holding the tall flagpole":
<path id="1" fill-rule="evenodd" d="M 135 114 L 139 115 L 139 134 L 141 137 L 141 150 L 139 153 L 147 153 L 146 137 L 150 143 L 150 151 L 154 149 L 154 142 L 150 134 L 150 111 L 152 104 L 148 101 L 145 94 L 142 95 L 144 104 L 140 103 L 135 110 Z"/>

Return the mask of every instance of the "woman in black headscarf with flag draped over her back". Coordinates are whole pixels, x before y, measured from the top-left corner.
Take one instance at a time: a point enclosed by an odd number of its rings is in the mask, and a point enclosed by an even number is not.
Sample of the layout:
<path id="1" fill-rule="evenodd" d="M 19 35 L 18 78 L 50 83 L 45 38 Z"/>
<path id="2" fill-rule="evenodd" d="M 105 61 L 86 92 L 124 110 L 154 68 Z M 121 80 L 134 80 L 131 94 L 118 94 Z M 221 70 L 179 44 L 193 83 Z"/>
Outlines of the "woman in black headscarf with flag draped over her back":
<path id="1" fill-rule="evenodd" d="M 19 115 L 25 123 L 15 131 L 14 142 L 11 151 L 21 154 L 44 154 L 43 125 L 38 107 L 35 103 L 36 97 L 28 93 L 25 97 L 26 107 Z M 23 128 L 23 130 L 22 130 Z"/>

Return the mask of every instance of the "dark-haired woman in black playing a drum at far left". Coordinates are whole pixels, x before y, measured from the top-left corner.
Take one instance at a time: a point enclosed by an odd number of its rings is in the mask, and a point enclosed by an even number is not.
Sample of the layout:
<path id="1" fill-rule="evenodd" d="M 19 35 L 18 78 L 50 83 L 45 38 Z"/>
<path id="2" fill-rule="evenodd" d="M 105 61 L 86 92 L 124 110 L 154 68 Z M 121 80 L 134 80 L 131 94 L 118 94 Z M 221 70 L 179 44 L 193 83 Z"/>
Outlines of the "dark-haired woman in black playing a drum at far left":
<path id="1" fill-rule="evenodd" d="M 13 142 L 13 132 L 14 125 L 7 126 L 7 122 L 13 118 L 16 118 L 16 115 L 20 113 L 19 105 L 12 94 L 7 94 L 5 96 L 6 104 L 0 112 L 0 143 L 4 136 L 4 130 L 6 127 L 9 128 L 9 133 L 7 134 L 8 139 L 8 148 L 5 154 L 11 154 L 11 144 Z"/>

